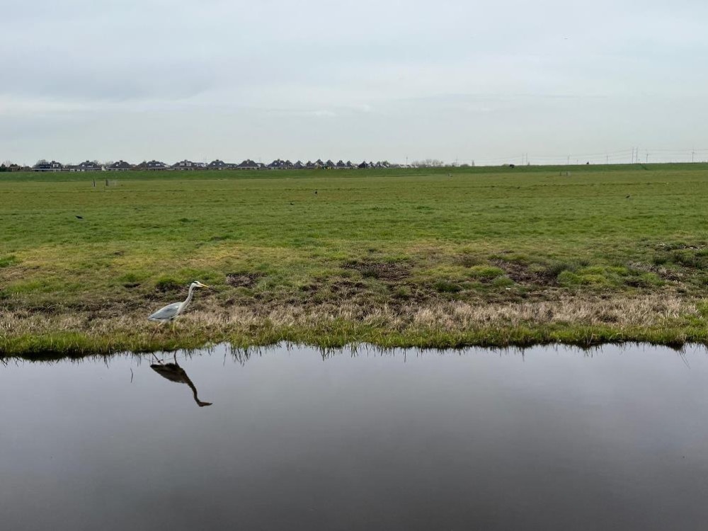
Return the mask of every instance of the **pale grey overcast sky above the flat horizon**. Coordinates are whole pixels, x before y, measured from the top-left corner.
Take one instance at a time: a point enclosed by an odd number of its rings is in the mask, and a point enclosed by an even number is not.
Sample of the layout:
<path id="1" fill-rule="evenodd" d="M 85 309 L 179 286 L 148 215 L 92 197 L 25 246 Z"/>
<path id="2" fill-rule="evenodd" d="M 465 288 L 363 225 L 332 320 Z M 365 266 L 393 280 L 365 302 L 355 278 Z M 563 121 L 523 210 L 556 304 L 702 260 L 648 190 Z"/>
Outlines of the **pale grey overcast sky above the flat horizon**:
<path id="1" fill-rule="evenodd" d="M 704 0 L 1 5 L 2 160 L 708 157 Z"/>

